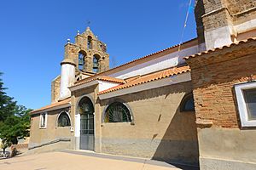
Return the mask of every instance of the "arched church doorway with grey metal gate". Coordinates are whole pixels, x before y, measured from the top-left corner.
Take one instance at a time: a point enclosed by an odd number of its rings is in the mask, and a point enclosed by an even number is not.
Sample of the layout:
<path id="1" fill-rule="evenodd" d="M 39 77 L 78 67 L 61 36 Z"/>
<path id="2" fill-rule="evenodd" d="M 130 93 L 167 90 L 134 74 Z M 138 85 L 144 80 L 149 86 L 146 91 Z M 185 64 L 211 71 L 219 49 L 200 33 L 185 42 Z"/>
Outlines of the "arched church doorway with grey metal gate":
<path id="1" fill-rule="evenodd" d="M 94 107 L 89 98 L 79 102 L 80 150 L 94 150 Z"/>

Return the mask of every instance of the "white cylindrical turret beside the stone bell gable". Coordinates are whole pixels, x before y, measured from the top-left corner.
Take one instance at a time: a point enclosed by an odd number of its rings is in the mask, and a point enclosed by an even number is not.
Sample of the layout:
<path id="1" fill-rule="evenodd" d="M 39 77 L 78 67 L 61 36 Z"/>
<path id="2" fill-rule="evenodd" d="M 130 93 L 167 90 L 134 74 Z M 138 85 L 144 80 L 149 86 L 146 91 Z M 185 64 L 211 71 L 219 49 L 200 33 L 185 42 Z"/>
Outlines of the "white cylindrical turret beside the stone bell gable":
<path id="1" fill-rule="evenodd" d="M 64 59 L 61 62 L 61 87 L 59 100 L 67 99 L 71 96 L 68 87 L 73 85 L 73 82 L 75 81 L 75 70 L 76 65 L 73 62 L 73 59 Z"/>

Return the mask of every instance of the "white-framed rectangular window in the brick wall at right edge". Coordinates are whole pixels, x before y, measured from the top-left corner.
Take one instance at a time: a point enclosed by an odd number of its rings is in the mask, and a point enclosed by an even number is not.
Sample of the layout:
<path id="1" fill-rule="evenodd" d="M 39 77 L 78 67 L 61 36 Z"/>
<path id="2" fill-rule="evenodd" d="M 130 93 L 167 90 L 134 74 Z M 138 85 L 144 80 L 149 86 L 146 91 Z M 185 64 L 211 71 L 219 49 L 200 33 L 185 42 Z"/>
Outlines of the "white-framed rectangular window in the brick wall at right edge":
<path id="1" fill-rule="evenodd" d="M 256 82 L 235 85 L 241 127 L 256 127 Z"/>

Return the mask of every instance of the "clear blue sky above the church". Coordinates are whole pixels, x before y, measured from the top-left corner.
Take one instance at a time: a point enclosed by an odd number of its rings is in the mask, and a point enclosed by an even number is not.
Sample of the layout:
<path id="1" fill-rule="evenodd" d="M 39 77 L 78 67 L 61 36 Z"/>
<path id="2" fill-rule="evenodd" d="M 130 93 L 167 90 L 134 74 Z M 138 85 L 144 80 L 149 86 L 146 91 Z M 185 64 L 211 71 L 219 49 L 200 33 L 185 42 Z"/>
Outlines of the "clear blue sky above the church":
<path id="1" fill-rule="evenodd" d="M 87 21 L 117 66 L 180 42 L 189 0 L 9 0 L 0 3 L 0 71 L 7 93 L 37 109 L 50 104 L 67 38 Z M 183 41 L 196 37 L 189 14 Z"/>

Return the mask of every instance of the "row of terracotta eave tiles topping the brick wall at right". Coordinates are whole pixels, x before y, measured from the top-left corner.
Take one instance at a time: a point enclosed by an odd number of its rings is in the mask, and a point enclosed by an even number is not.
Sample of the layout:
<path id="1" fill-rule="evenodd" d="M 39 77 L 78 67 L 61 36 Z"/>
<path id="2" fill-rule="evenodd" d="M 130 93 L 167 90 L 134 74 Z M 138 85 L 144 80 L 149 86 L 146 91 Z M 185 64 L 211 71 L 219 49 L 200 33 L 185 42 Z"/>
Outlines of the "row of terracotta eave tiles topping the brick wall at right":
<path id="1" fill-rule="evenodd" d="M 203 54 L 210 54 L 212 52 L 215 52 L 215 51 L 219 51 L 219 50 L 222 50 L 224 48 L 230 48 L 232 46 L 236 46 L 236 45 L 239 45 L 241 43 L 246 43 L 246 42 L 253 42 L 253 41 L 256 41 L 256 37 L 253 37 L 253 38 L 249 38 L 247 40 L 241 40 L 239 42 L 234 42 L 234 43 L 231 43 L 230 45 L 225 45 L 223 47 L 220 47 L 220 48 L 213 48 L 213 49 L 209 49 L 207 51 L 204 51 L 204 52 L 201 52 L 199 54 L 193 54 L 193 55 L 190 55 L 188 57 L 184 57 L 183 59 L 190 59 L 190 58 L 195 58 L 195 57 L 198 57 L 198 56 L 201 56 Z"/>

